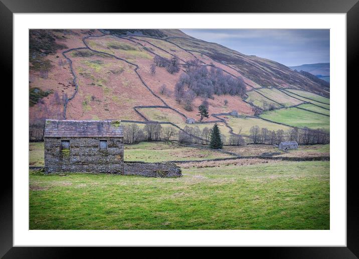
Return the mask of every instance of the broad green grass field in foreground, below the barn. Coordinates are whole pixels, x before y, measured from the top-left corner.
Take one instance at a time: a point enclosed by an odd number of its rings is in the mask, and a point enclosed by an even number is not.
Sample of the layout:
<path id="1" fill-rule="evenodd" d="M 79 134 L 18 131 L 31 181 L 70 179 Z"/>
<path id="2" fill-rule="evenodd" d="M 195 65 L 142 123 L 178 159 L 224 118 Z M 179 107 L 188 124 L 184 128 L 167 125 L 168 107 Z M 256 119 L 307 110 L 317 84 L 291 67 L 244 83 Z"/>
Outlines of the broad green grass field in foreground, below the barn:
<path id="1" fill-rule="evenodd" d="M 30 171 L 30 229 L 329 229 L 329 162 L 267 162 L 174 179 Z"/>

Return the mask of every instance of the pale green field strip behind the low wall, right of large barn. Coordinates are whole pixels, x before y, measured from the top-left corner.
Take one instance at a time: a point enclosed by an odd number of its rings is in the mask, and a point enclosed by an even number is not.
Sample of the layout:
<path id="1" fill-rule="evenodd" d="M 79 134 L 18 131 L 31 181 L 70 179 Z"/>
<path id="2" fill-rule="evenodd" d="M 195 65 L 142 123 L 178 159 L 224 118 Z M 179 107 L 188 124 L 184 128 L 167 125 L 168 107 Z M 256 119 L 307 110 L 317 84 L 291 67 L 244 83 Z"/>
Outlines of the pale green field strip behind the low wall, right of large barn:
<path id="1" fill-rule="evenodd" d="M 233 157 L 218 151 L 178 146 L 171 142 L 125 145 L 125 161 L 183 161 Z"/>

